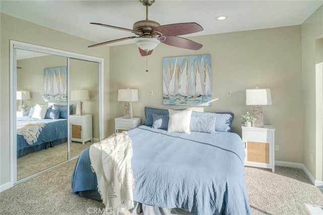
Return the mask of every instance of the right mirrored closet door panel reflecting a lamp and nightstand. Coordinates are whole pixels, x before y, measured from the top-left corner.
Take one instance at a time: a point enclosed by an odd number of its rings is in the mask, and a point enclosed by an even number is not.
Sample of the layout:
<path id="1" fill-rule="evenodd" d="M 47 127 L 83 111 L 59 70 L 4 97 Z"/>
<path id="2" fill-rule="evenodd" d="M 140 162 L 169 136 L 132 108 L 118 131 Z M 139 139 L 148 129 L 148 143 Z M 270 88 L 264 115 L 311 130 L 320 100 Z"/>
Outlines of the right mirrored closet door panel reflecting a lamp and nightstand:
<path id="1" fill-rule="evenodd" d="M 70 156 L 80 154 L 99 139 L 98 63 L 70 59 Z M 81 99 L 81 100 L 79 100 Z M 82 102 L 84 115 L 77 115 L 77 106 Z M 82 113 L 83 114 L 83 113 Z"/>

